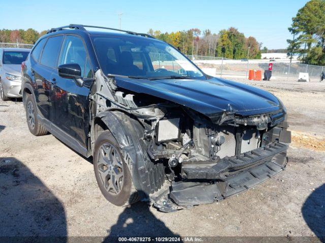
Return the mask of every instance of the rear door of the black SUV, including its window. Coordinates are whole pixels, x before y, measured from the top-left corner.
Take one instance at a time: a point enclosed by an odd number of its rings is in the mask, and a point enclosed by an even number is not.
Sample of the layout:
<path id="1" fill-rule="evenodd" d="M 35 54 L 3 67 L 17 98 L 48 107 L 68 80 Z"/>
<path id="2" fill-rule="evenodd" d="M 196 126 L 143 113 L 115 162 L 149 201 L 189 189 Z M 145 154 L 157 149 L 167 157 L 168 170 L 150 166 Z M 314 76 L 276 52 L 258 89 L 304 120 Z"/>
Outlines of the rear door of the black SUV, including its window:
<path id="1" fill-rule="evenodd" d="M 31 70 L 35 80 L 36 104 L 43 118 L 47 120 L 52 120 L 54 118 L 52 115 L 53 103 L 51 100 L 53 90 L 52 73 L 57 67 L 57 59 L 62 41 L 63 35 L 49 37 L 43 48 L 39 63 L 32 65 Z M 47 127 L 47 124 L 45 124 L 45 126 Z"/>

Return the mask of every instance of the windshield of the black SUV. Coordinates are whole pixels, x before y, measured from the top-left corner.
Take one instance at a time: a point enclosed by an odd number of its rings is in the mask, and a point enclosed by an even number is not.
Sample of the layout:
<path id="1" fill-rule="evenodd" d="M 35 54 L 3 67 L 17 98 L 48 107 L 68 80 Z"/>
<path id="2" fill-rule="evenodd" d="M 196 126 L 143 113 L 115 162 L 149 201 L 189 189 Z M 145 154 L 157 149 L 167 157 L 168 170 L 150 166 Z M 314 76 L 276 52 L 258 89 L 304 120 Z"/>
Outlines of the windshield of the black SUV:
<path id="1" fill-rule="evenodd" d="M 170 45 L 152 38 L 92 36 L 105 74 L 139 78 L 205 79 L 203 73 Z"/>

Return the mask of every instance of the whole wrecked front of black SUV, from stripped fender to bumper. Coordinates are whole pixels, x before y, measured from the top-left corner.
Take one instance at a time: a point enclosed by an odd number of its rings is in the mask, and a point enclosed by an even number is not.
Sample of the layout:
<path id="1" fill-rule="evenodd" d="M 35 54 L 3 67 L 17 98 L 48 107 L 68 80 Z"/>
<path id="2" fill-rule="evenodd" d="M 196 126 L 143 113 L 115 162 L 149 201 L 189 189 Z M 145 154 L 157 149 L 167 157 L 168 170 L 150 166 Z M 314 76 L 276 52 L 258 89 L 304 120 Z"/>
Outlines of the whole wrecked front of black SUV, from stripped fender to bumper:
<path id="1" fill-rule="evenodd" d="M 169 99 L 145 89 L 140 93 L 133 88 L 137 81 L 125 80 L 98 76 L 93 109 L 114 126 L 110 130 L 136 189 L 160 211 L 220 201 L 285 168 L 291 135 L 282 104 L 246 113 L 229 105 L 206 115 L 190 103 L 177 102 L 176 92 Z M 120 133 L 125 136 L 119 139 Z M 154 171 L 157 165 L 163 169 Z"/>

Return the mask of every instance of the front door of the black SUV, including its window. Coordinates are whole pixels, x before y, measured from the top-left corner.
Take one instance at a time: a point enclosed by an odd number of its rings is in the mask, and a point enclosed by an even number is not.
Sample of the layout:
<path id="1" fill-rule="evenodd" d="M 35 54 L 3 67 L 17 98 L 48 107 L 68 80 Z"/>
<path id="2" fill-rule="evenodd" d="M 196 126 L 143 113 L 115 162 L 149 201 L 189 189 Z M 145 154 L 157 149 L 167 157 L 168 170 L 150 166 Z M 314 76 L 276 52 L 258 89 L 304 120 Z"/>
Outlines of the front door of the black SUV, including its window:
<path id="1" fill-rule="evenodd" d="M 81 67 L 85 85 L 79 87 L 74 79 L 60 77 L 57 70 L 53 73 L 56 82 L 53 89 L 54 124 L 86 148 L 89 132 L 89 87 L 86 81 L 92 78 L 92 70 L 86 47 L 76 35 L 64 38 L 58 66 L 71 63 Z"/>

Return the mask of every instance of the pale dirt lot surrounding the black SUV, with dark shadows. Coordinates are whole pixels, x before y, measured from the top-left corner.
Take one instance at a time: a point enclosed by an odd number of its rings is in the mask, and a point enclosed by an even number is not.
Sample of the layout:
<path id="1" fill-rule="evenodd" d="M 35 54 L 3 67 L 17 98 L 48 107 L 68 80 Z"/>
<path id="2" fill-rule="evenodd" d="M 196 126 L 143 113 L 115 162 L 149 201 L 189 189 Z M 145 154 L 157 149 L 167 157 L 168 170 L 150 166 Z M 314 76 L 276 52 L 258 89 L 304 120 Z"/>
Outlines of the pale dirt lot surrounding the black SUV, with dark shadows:
<path id="1" fill-rule="evenodd" d="M 111 205 L 91 160 L 52 135 L 32 136 L 22 102 L 0 101 L 0 236 L 325 236 L 325 84 L 246 83 L 287 107 L 286 170 L 220 203 L 170 214 Z"/>

